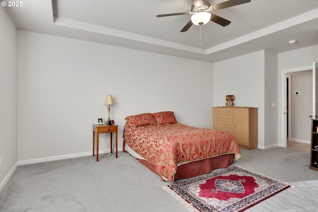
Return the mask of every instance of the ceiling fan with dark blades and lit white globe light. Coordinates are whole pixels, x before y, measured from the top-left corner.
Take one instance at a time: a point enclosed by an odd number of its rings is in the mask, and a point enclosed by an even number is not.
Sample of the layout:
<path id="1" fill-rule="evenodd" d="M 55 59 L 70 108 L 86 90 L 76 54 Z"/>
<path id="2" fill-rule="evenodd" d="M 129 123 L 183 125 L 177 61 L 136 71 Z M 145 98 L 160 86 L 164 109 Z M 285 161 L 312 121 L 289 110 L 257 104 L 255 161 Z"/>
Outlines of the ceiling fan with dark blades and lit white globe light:
<path id="1" fill-rule="evenodd" d="M 157 15 L 157 17 L 192 14 L 191 20 L 181 29 L 180 32 L 187 31 L 192 26 L 192 24 L 202 26 L 208 23 L 210 20 L 217 24 L 220 24 L 221 26 L 227 26 L 231 23 L 231 21 L 225 18 L 222 18 L 218 15 L 211 14 L 210 11 L 216 11 L 216 10 L 224 9 L 231 6 L 236 6 L 242 3 L 250 2 L 250 0 L 228 0 L 228 1 L 211 6 L 211 3 L 208 1 L 203 1 L 203 0 L 192 0 L 192 1 L 193 1 L 193 5 L 191 6 L 190 12 L 161 14 L 161 15 Z"/>

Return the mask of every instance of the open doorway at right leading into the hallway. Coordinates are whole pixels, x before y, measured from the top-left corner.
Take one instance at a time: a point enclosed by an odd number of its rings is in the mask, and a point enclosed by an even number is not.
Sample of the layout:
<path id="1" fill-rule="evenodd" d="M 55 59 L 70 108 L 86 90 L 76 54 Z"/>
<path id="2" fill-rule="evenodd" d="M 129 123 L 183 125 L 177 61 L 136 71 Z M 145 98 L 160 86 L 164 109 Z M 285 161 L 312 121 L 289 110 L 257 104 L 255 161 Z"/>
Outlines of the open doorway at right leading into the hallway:
<path id="1" fill-rule="evenodd" d="M 312 70 L 286 73 L 286 147 L 310 153 L 310 114 L 313 105 Z"/>

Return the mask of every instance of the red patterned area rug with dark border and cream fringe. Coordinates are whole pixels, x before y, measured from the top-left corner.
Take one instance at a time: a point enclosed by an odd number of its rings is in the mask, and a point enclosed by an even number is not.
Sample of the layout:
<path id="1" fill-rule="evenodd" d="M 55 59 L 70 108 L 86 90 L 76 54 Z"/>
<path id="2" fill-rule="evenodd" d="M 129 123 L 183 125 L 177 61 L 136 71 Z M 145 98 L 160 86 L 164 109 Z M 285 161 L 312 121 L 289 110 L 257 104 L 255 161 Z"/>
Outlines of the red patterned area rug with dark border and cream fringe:
<path id="1" fill-rule="evenodd" d="M 290 187 L 238 166 L 189 178 L 163 189 L 195 212 L 240 212 Z"/>

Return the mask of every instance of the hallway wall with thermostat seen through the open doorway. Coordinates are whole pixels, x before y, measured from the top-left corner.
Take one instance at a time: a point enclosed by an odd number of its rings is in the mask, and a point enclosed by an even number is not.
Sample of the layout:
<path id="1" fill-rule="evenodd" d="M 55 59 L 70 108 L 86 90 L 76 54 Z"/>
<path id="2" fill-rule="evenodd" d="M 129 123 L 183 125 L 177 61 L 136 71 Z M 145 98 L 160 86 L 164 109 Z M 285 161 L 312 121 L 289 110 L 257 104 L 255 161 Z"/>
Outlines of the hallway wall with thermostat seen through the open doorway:
<path id="1" fill-rule="evenodd" d="M 313 112 L 313 71 L 291 72 L 291 141 L 311 142 Z M 295 95 L 300 91 L 301 95 Z"/>

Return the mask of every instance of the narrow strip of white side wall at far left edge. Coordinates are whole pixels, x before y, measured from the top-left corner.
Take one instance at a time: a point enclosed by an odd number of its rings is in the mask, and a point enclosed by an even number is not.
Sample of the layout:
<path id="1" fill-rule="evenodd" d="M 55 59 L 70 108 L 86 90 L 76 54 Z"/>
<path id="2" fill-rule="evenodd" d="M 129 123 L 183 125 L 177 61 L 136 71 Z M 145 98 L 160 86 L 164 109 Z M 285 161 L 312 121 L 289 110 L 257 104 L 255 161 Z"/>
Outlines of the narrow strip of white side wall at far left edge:
<path id="1" fill-rule="evenodd" d="M 17 32 L 0 7 L 0 190 L 17 166 Z"/>

